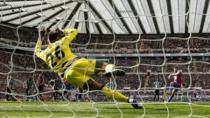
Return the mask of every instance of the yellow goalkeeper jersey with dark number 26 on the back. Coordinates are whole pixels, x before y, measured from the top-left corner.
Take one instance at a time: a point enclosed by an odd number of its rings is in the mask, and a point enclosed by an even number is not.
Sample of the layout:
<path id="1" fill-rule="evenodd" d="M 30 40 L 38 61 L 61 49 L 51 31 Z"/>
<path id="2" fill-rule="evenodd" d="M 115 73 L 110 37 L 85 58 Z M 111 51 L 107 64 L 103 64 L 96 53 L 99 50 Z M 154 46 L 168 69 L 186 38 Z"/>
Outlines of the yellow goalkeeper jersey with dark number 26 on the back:
<path id="1" fill-rule="evenodd" d="M 64 71 L 71 63 L 71 60 L 77 57 L 71 52 L 70 44 L 76 38 L 78 30 L 65 29 L 65 36 L 60 40 L 51 43 L 45 50 L 41 49 L 42 40 L 38 39 L 35 46 L 35 54 L 56 72 L 62 79 Z"/>

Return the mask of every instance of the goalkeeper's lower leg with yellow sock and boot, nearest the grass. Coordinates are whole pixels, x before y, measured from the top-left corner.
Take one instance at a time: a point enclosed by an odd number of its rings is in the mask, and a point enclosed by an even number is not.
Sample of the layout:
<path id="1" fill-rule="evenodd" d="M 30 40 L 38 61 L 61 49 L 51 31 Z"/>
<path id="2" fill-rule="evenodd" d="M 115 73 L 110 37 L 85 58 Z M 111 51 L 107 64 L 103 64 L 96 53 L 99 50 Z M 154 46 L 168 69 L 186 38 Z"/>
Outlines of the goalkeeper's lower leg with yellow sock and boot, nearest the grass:
<path id="1" fill-rule="evenodd" d="M 117 101 L 121 101 L 121 102 L 128 102 L 131 103 L 131 105 L 134 108 L 142 108 L 142 105 L 138 103 L 138 101 L 136 99 L 130 99 L 129 97 L 123 95 L 122 93 L 116 91 L 116 90 L 112 90 L 106 86 L 104 86 L 101 83 L 98 83 L 97 81 L 95 81 L 94 79 L 89 79 L 86 84 L 84 84 L 84 89 L 88 89 L 88 90 L 101 90 L 101 92 L 110 98 L 113 98 Z"/>

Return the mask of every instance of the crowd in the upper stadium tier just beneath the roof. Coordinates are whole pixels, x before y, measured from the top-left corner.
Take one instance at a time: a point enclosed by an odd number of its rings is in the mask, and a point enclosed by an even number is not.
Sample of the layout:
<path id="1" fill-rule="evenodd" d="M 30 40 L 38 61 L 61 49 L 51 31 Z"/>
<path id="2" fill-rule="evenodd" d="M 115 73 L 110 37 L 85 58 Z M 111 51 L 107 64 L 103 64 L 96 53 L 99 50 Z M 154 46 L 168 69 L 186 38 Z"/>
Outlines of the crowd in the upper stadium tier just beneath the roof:
<path id="1" fill-rule="evenodd" d="M 20 47 L 34 47 L 38 38 L 38 32 L 35 29 L 27 28 L 8 28 L 0 27 L 4 31 L 0 33 L 1 42 L 17 45 Z M 8 40 L 9 41 L 6 41 Z M 189 41 L 189 46 L 188 46 Z M 73 50 L 76 53 L 206 53 L 210 49 L 210 39 L 208 38 L 183 38 L 166 37 L 160 39 L 147 39 L 143 37 L 103 37 L 79 35 L 73 42 Z"/>

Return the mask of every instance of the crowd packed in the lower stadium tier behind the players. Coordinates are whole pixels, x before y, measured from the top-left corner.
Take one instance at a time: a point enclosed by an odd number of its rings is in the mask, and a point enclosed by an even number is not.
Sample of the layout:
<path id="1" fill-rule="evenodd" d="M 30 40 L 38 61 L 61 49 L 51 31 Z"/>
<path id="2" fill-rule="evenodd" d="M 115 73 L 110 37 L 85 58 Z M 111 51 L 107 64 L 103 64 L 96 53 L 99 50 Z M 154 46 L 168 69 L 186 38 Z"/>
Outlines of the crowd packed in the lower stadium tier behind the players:
<path id="1" fill-rule="evenodd" d="M 54 96 L 60 96 L 56 98 L 62 98 L 62 91 L 64 91 L 64 86 L 62 82 L 59 82 L 59 88 L 55 88 L 55 83 L 52 84 L 51 80 L 56 80 L 57 75 L 53 74 L 48 70 L 48 67 L 40 61 L 38 58 L 35 58 L 32 55 L 27 54 L 17 54 L 17 53 L 8 53 L 5 51 L 0 51 L 1 53 L 1 76 L 0 76 L 0 84 L 1 84 L 1 92 L 6 92 L 7 90 L 7 82 L 8 77 L 14 79 L 15 84 L 12 87 L 12 93 L 18 95 L 42 95 L 44 100 L 52 100 Z M 11 59 L 12 57 L 12 59 Z M 36 61 L 34 61 L 36 60 Z M 176 63 L 179 62 L 180 65 L 177 64 L 168 64 L 166 63 L 164 66 L 161 66 L 160 62 L 163 62 L 163 58 L 141 58 L 138 57 L 116 57 L 108 58 L 109 62 L 115 63 L 117 66 L 126 70 L 127 75 L 125 77 L 117 77 L 117 89 L 124 90 L 137 90 L 138 88 L 144 89 L 152 89 L 153 82 L 158 78 L 161 83 L 161 87 L 169 86 L 171 80 L 167 79 L 167 76 L 173 71 L 173 67 L 176 66 L 183 72 L 183 79 L 185 81 L 185 87 L 202 87 L 203 90 L 210 88 L 210 66 L 205 63 L 206 60 L 202 58 L 194 59 L 190 64 L 181 64 L 182 61 L 179 61 L 178 58 L 174 58 Z M 162 60 L 162 61 L 161 61 Z M 12 62 L 11 62 L 12 61 Z M 150 64 L 150 65 L 148 65 Z M 188 69 L 188 66 L 190 67 Z M 151 72 L 151 76 L 149 80 L 146 80 L 146 73 Z M 42 76 L 44 81 L 42 82 L 43 88 L 39 89 L 40 83 L 39 76 Z M 33 80 L 31 84 L 30 92 L 26 92 L 27 86 L 26 81 Z M 109 83 L 109 78 L 100 75 L 98 77 L 98 81 L 104 84 Z M 69 94 L 78 93 L 78 90 L 74 87 L 70 87 L 71 92 Z M 140 90 L 141 90 L 140 89 Z M 56 95 L 52 94 L 58 92 Z M 73 92 L 72 92 L 73 91 Z M 76 91 L 76 92 L 75 92 Z M 51 93 L 51 94 L 50 94 Z M 92 94 L 92 93 L 91 93 Z M 152 94 L 151 92 L 148 94 Z M 5 93 L 1 94 L 1 99 L 5 98 Z M 14 95 L 13 95 L 14 96 Z M 95 96 L 95 94 L 93 95 Z M 21 98 L 21 96 L 19 96 Z M 69 97 L 69 96 L 68 96 Z M 69 99 L 74 100 L 76 97 Z M 27 97 L 27 99 L 30 97 Z M 26 99 L 26 98 L 24 98 Z M 55 99 L 55 98 L 54 98 Z"/>

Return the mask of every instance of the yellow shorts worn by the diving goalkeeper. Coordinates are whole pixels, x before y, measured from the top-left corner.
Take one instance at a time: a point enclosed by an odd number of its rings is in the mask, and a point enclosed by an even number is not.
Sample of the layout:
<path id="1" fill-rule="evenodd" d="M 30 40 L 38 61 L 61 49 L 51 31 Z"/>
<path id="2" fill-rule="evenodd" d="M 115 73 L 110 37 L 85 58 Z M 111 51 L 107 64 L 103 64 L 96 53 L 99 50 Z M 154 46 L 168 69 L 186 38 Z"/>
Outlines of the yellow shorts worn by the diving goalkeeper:
<path id="1" fill-rule="evenodd" d="M 91 75 L 95 73 L 96 60 L 81 58 L 74 61 L 65 71 L 66 80 L 79 88 L 83 88 Z"/>

